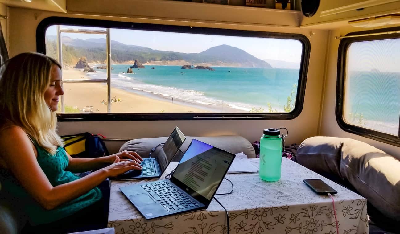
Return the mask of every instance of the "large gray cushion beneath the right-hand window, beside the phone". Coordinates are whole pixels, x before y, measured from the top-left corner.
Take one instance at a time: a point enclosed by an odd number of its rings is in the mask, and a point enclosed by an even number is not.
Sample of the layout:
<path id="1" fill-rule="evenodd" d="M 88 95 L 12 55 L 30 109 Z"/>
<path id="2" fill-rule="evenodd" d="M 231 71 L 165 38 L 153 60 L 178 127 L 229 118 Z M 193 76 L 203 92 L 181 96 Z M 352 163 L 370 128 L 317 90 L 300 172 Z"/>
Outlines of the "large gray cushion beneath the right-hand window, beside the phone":
<path id="1" fill-rule="evenodd" d="M 297 162 L 349 182 L 385 216 L 400 221 L 400 161 L 349 138 L 316 136 L 300 144 Z"/>

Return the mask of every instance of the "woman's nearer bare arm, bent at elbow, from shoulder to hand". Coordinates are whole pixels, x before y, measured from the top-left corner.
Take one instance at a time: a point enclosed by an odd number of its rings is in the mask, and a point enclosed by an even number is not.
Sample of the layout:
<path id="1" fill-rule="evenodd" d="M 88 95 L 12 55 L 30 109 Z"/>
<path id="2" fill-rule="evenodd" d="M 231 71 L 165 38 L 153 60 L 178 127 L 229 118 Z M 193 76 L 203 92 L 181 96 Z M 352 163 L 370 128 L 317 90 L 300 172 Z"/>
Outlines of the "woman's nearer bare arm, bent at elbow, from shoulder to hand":
<path id="1" fill-rule="evenodd" d="M 118 176 L 128 170 L 140 170 L 135 160 L 119 162 L 119 157 L 110 166 L 96 172 L 53 187 L 36 159 L 34 146 L 24 130 L 6 128 L 0 132 L 0 152 L 7 169 L 14 175 L 32 197 L 44 208 L 51 210 L 60 204 L 77 198 L 110 176 Z"/>

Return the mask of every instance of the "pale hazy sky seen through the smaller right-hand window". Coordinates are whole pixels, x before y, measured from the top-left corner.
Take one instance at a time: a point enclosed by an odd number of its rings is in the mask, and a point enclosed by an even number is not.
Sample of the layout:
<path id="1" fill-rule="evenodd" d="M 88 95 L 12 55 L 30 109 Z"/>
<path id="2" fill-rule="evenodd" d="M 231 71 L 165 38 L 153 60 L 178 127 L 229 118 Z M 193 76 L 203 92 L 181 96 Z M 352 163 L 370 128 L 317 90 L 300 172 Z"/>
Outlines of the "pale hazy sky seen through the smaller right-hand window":
<path id="1" fill-rule="evenodd" d="M 351 71 L 400 72 L 400 39 L 353 42 L 347 56 Z"/>

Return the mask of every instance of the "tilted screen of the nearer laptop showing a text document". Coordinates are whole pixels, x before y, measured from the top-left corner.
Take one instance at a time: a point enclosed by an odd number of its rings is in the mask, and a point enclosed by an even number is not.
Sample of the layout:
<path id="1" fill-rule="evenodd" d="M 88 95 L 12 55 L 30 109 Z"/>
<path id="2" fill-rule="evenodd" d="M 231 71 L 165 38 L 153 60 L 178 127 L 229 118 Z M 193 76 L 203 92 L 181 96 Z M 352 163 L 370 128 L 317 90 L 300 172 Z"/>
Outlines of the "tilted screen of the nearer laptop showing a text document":
<path id="1" fill-rule="evenodd" d="M 233 158 L 224 150 L 193 139 L 173 176 L 210 200 Z"/>

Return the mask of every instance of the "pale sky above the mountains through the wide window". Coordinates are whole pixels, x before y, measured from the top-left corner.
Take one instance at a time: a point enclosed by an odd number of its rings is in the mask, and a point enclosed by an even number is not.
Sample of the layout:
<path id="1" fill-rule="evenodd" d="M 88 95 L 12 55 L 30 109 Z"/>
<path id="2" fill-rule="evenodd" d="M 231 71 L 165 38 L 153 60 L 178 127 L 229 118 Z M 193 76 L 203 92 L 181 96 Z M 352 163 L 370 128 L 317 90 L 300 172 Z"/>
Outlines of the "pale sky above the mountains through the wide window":
<path id="1" fill-rule="evenodd" d="M 89 28 L 62 26 L 62 28 Z M 91 28 L 103 29 L 105 28 Z M 46 35 L 56 35 L 56 26 L 50 26 Z M 70 38 L 106 38 L 102 34 L 63 33 Z M 154 50 L 200 53 L 213 46 L 226 44 L 240 48 L 259 59 L 274 59 L 300 64 L 302 44 L 297 40 L 249 38 L 203 34 L 154 32 L 144 30 L 111 29 L 111 40 L 127 45 L 145 46 Z M 112 48 L 111 48 L 112 51 Z"/>

